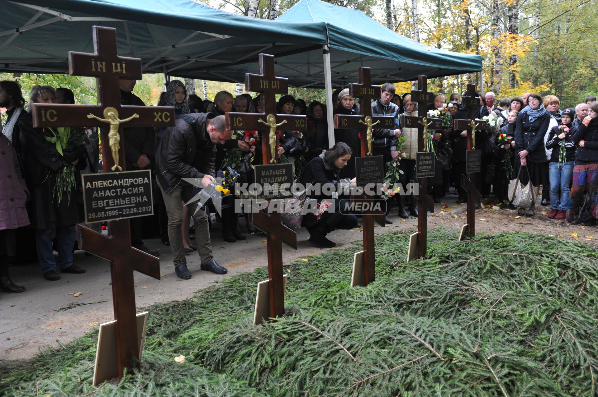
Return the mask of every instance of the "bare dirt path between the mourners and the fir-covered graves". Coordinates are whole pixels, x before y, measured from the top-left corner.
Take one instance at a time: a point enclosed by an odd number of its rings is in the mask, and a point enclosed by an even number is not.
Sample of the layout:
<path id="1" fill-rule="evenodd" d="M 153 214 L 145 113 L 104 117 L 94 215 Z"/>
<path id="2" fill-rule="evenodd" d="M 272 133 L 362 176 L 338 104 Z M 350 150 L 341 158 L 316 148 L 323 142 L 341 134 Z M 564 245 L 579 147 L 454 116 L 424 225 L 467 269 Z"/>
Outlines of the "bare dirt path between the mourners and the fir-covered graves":
<path id="1" fill-rule="evenodd" d="M 498 204 L 498 203 L 497 203 Z M 446 208 L 448 207 L 448 208 Z M 435 213 L 429 214 L 428 226 L 449 226 L 460 228 L 465 223 L 466 205 L 456 204 L 456 196 L 447 195 L 437 204 Z M 545 211 L 545 213 L 541 213 Z M 489 207 L 475 211 L 476 232 L 530 232 L 543 235 L 561 236 L 566 239 L 579 239 L 585 244 L 595 245 L 594 234 L 598 240 L 596 227 L 573 226 L 567 221 L 551 220 L 547 217 L 548 207 L 538 202 L 536 216 L 517 218 L 515 210 L 492 210 Z M 396 211 L 390 214 L 394 220 L 387 227 L 376 227 L 376 233 L 390 230 L 407 231 L 417 228 L 417 219 L 402 220 Z M 242 231 L 246 229 L 242 226 Z M 572 235 L 576 233 L 576 235 Z M 146 240 L 148 247 L 160 250 L 161 280 L 156 280 L 141 273 L 135 274 L 136 304 L 141 309 L 160 301 L 181 300 L 191 297 L 194 291 L 208 287 L 211 283 L 238 273 L 250 272 L 256 267 L 267 264 L 265 236 L 247 235 L 245 241 L 223 243 L 218 229 L 212 232 L 212 248 L 219 264 L 228 269 L 225 276 L 199 270 L 197 253 L 187 255 L 188 267 L 193 273 L 190 280 L 176 277 L 172 267 L 170 248 L 160 244 L 158 239 Z M 305 229 L 298 230 L 298 250 L 283 245 L 283 260 L 297 260 L 308 254 L 318 254 L 322 250 L 310 247 L 307 243 L 309 234 Z M 361 241 L 359 230 L 336 230 L 329 235 L 337 242 L 338 248 L 347 247 L 350 242 Z M 60 343 L 70 343 L 86 334 L 97 322 L 114 319 L 112 311 L 112 290 L 109 285 L 110 271 L 108 262 L 102 258 L 85 256 L 83 251 L 75 252 L 75 263 L 87 269 L 87 273 L 75 275 L 65 273 L 60 281 L 46 281 L 37 263 L 10 267 L 13 281 L 25 285 L 27 290 L 20 294 L 0 294 L 0 359 L 26 359 L 36 355 L 46 346 L 59 347 Z M 72 293 L 81 292 L 78 297 Z M 104 301 L 105 302 L 102 302 Z M 100 303 L 92 303 L 100 302 Z M 91 303 L 69 310 L 56 309 L 68 307 L 69 303 Z M 151 313 L 150 313 L 151 315 Z"/>

